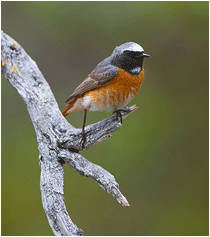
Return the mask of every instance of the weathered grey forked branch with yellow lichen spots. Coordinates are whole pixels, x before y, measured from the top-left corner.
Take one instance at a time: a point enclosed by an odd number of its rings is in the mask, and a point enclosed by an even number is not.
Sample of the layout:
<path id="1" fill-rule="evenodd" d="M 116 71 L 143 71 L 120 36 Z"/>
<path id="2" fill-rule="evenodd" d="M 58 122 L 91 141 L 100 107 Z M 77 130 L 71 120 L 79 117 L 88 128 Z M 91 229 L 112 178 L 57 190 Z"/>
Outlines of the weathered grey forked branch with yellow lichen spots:
<path id="1" fill-rule="evenodd" d="M 124 207 L 129 206 L 119 191 L 113 175 L 86 160 L 82 150 L 81 129 L 74 128 L 61 114 L 51 89 L 36 63 L 24 49 L 4 32 L 1 34 L 2 72 L 22 96 L 34 125 L 41 167 L 40 189 L 43 208 L 55 235 L 82 235 L 69 217 L 63 197 L 64 160 L 79 174 L 95 180 Z M 135 111 L 134 105 L 125 108 L 123 119 Z M 86 127 L 84 149 L 111 137 L 110 132 L 121 127 L 116 115 Z"/>

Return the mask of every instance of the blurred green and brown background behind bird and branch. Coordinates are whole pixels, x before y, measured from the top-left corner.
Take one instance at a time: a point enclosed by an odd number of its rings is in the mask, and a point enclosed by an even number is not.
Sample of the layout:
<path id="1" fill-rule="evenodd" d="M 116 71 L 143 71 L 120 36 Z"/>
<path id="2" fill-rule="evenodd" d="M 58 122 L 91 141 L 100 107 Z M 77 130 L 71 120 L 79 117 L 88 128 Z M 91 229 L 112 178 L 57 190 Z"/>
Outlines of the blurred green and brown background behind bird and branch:
<path id="1" fill-rule="evenodd" d="M 37 62 L 60 109 L 115 46 L 152 55 L 139 109 L 87 159 L 111 172 L 123 208 L 67 165 L 65 202 L 84 235 L 208 235 L 208 2 L 2 2 L 2 30 Z M 89 112 L 87 124 L 111 113 Z M 83 111 L 67 117 L 82 126 Z M 2 76 L 2 235 L 53 235 L 41 203 L 36 135 Z"/>

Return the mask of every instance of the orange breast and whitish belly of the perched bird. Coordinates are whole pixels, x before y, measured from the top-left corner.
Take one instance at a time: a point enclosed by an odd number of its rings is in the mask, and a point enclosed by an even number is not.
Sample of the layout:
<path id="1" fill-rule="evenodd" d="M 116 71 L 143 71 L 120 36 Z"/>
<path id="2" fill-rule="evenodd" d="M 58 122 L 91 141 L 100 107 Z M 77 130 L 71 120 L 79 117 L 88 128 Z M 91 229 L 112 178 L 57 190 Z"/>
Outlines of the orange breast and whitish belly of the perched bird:
<path id="1" fill-rule="evenodd" d="M 144 78 L 144 68 L 142 67 L 142 72 L 138 76 L 131 75 L 121 68 L 118 70 L 118 75 L 106 85 L 85 93 L 84 97 L 91 101 L 89 110 L 119 109 L 137 94 Z"/>

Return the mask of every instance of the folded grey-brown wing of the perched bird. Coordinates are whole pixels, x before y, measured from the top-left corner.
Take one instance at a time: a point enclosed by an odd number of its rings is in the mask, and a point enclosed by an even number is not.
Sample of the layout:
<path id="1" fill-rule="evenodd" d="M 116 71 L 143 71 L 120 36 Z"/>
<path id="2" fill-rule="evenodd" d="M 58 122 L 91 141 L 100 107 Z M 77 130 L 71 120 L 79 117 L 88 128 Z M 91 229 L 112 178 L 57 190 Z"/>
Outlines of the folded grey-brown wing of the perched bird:
<path id="1" fill-rule="evenodd" d="M 119 70 L 115 66 L 112 66 L 111 64 L 103 65 L 104 64 L 103 62 L 97 65 L 97 67 L 85 78 L 85 80 L 66 99 L 65 103 L 71 103 L 78 96 L 81 96 L 88 91 L 92 91 L 100 87 L 101 85 L 105 85 L 119 73 Z"/>

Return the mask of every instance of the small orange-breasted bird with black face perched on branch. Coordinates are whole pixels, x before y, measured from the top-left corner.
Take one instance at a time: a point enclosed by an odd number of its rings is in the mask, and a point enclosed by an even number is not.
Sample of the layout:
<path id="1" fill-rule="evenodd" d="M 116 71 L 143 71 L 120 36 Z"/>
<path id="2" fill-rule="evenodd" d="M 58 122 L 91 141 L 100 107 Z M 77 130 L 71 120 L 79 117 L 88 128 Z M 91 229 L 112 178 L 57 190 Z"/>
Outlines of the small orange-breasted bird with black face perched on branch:
<path id="1" fill-rule="evenodd" d="M 143 81 L 145 57 L 151 56 L 137 43 L 127 42 L 115 47 L 111 56 L 101 61 L 66 99 L 64 117 L 84 110 L 83 138 L 87 111 L 114 110 L 122 123 L 120 112 L 135 97 Z"/>

